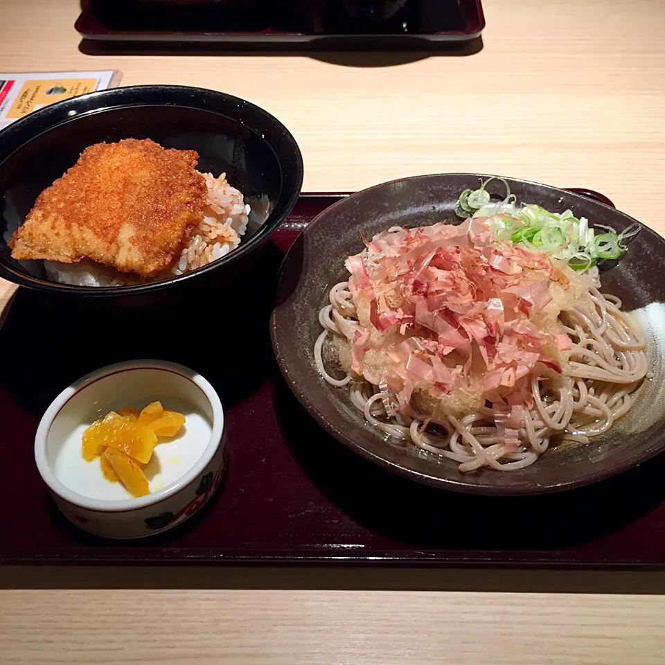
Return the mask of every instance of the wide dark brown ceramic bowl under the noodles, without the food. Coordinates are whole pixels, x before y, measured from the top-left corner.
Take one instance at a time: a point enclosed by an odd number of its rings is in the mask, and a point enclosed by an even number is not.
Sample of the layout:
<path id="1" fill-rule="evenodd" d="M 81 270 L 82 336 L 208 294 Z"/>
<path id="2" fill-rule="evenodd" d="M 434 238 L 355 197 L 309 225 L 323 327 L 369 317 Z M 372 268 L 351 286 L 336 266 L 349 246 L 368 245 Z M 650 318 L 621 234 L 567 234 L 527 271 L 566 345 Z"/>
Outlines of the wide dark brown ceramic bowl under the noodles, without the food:
<path id="1" fill-rule="evenodd" d="M 285 258 L 271 320 L 274 351 L 292 391 L 322 427 L 355 452 L 400 475 L 460 492 L 517 495 L 565 490 L 610 477 L 661 452 L 665 449 L 665 354 L 660 351 L 665 346 L 665 308 L 659 310 L 658 305 L 650 312 L 661 314 L 660 344 L 659 326 L 646 330 L 654 377 L 639 389 L 628 415 L 589 445 L 550 450 L 519 471 L 483 469 L 463 474 L 454 461 L 384 436 L 351 405 L 346 389 L 334 388 L 319 376 L 312 355 L 321 331 L 317 314 L 330 287 L 346 278 L 346 256 L 362 250 L 361 235 L 371 238 L 395 224 L 415 227 L 454 220 L 459 193 L 486 177 L 463 173 L 387 182 L 343 199 L 310 223 Z M 508 182 L 520 202 L 552 211 L 570 208 L 592 224 L 617 229 L 635 222 L 579 194 L 524 180 Z M 663 265 L 665 240 L 643 227 L 619 265 L 603 272 L 603 290 L 619 296 L 628 310 L 664 302 Z"/>

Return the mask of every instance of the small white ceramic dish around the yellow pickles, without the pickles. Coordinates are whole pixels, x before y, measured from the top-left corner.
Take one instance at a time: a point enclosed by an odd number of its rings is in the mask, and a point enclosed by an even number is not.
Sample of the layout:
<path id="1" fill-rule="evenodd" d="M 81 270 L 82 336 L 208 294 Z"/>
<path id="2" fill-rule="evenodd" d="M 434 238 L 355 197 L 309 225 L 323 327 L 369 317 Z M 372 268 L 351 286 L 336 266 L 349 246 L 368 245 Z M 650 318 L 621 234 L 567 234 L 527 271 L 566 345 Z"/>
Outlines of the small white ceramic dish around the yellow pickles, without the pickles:
<path id="1" fill-rule="evenodd" d="M 186 423 L 155 447 L 145 467 L 150 494 L 132 497 L 105 479 L 98 458 L 83 459 L 81 436 L 108 411 L 140 410 L 155 400 L 183 413 Z M 208 502 L 224 477 L 223 434 L 220 398 L 201 375 L 170 362 L 134 360 L 103 367 L 53 400 L 37 428 L 35 461 L 73 524 L 105 538 L 141 538 L 180 524 Z"/>

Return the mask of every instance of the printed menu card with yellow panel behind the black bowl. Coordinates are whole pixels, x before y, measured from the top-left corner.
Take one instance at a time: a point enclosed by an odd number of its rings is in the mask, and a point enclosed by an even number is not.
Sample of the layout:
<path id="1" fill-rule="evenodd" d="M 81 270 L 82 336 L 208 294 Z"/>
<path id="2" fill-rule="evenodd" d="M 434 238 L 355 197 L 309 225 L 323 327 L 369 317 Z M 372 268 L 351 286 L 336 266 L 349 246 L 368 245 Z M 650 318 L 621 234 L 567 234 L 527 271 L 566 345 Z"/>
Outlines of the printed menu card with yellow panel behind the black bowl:
<path id="1" fill-rule="evenodd" d="M 0 129 L 49 104 L 116 87 L 121 77 L 116 69 L 0 73 Z"/>

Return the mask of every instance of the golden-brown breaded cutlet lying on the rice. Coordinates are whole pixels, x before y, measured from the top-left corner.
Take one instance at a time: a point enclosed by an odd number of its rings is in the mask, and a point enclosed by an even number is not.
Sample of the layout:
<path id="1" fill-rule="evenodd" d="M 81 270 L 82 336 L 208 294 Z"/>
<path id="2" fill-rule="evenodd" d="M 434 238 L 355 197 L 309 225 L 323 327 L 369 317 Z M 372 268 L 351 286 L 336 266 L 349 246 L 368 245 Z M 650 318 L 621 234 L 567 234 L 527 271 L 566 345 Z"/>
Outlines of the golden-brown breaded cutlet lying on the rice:
<path id="1" fill-rule="evenodd" d="M 12 256 L 160 272 L 203 218 L 207 189 L 197 159 L 194 150 L 149 139 L 91 145 L 39 195 L 9 242 Z"/>

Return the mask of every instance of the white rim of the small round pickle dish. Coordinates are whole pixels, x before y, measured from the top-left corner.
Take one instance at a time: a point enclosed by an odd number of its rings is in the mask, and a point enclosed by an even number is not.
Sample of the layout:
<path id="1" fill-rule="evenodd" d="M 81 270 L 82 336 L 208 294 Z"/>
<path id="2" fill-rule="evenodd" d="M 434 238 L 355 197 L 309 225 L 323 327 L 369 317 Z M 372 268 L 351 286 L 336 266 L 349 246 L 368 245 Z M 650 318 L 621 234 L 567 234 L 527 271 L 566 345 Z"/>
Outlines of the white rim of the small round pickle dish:
<path id="1" fill-rule="evenodd" d="M 155 369 L 172 372 L 189 380 L 195 384 L 202 393 L 204 393 L 205 398 L 209 402 L 213 412 L 210 440 L 194 465 L 178 479 L 168 484 L 166 487 L 157 490 L 157 492 L 152 492 L 144 497 L 134 497 L 131 499 L 93 499 L 71 490 L 63 484 L 62 481 L 57 479 L 46 459 L 46 441 L 51 426 L 55 422 L 57 416 L 60 415 L 60 411 L 62 411 L 62 408 L 67 402 L 91 384 L 104 380 L 111 375 Z M 215 391 L 211 383 L 202 375 L 175 362 L 150 359 L 127 360 L 124 362 L 116 362 L 90 372 L 70 384 L 55 398 L 55 400 L 53 400 L 53 402 L 51 402 L 46 411 L 44 411 L 44 415 L 39 421 L 39 426 L 37 427 L 37 432 L 35 434 L 35 462 L 37 463 L 39 475 L 42 476 L 42 480 L 46 483 L 46 486 L 48 486 L 49 490 L 51 490 L 54 495 L 65 502 L 77 506 L 78 508 L 85 508 L 88 511 L 97 513 L 129 513 L 159 504 L 164 499 L 174 496 L 188 485 L 192 484 L 200 473 L 205 470 L 206 466 L 209 465 L 220 445 L 222 445 L 223 433 L 224 409 L 222 409 L 222 402 L 220 401 L 217 391 Z"/>

